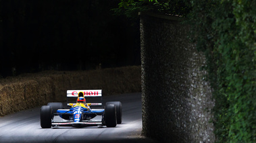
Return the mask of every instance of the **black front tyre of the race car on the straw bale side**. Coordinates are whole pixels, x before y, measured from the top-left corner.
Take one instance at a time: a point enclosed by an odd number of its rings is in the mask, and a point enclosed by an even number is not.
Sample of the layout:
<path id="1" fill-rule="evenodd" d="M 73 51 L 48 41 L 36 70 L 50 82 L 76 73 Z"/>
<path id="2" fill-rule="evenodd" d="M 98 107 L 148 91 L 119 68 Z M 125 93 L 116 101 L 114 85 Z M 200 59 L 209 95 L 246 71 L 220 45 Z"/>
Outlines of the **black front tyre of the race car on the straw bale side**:
<path id="1" fill-rule="evenodd" d="M 42 128 L 51 128 L 51 117 L 52 117 L 52 109 L 49 105 L 43 105 L 41 107 L 41 127 Z"/>

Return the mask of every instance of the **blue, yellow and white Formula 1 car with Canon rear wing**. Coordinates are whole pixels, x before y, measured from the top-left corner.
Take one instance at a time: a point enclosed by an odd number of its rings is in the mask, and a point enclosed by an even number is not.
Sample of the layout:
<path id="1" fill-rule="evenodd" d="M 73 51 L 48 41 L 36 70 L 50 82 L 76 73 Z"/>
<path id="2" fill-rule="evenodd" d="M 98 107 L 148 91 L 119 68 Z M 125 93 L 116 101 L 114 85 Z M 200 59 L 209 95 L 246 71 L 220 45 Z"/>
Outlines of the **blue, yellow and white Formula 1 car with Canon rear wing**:
<path id="1" fill-rule="evenodd" d="M 77 97 L 76 103 L 67 103 L 70 109 L 63 109 L 62 103 L 48 103 L 41 107 L 41 128 L 57 126 L 107 126 L 116 127 L 122 123 L 122 103 L 111 101 L 103 109 L 91 109 L 90 106 L 101 106 L 101 90 L 68 90 L 67 97 Z M 101 103 L 86 103 L 85 97 L 101 97 Z M 68 98 L 67 98 L 68 101 Z M 101 120 L 93 120 L 101 115 Z M 61 120 L 55 120 L 55 117 Z"/>

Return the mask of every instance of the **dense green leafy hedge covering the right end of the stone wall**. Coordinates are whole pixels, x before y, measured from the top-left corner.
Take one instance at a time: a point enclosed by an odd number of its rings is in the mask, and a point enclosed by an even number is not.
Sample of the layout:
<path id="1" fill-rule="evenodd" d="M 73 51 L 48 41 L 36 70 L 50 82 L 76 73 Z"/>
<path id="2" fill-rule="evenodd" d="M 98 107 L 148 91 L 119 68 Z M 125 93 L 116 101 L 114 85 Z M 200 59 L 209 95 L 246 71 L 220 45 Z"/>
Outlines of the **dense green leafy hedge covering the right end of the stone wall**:
<path id="1" fill-rule="evenodd" d="M 190 3 L 189 23 L 214 89 L 217 142 L 256 142 L 256 2 Z"/>

